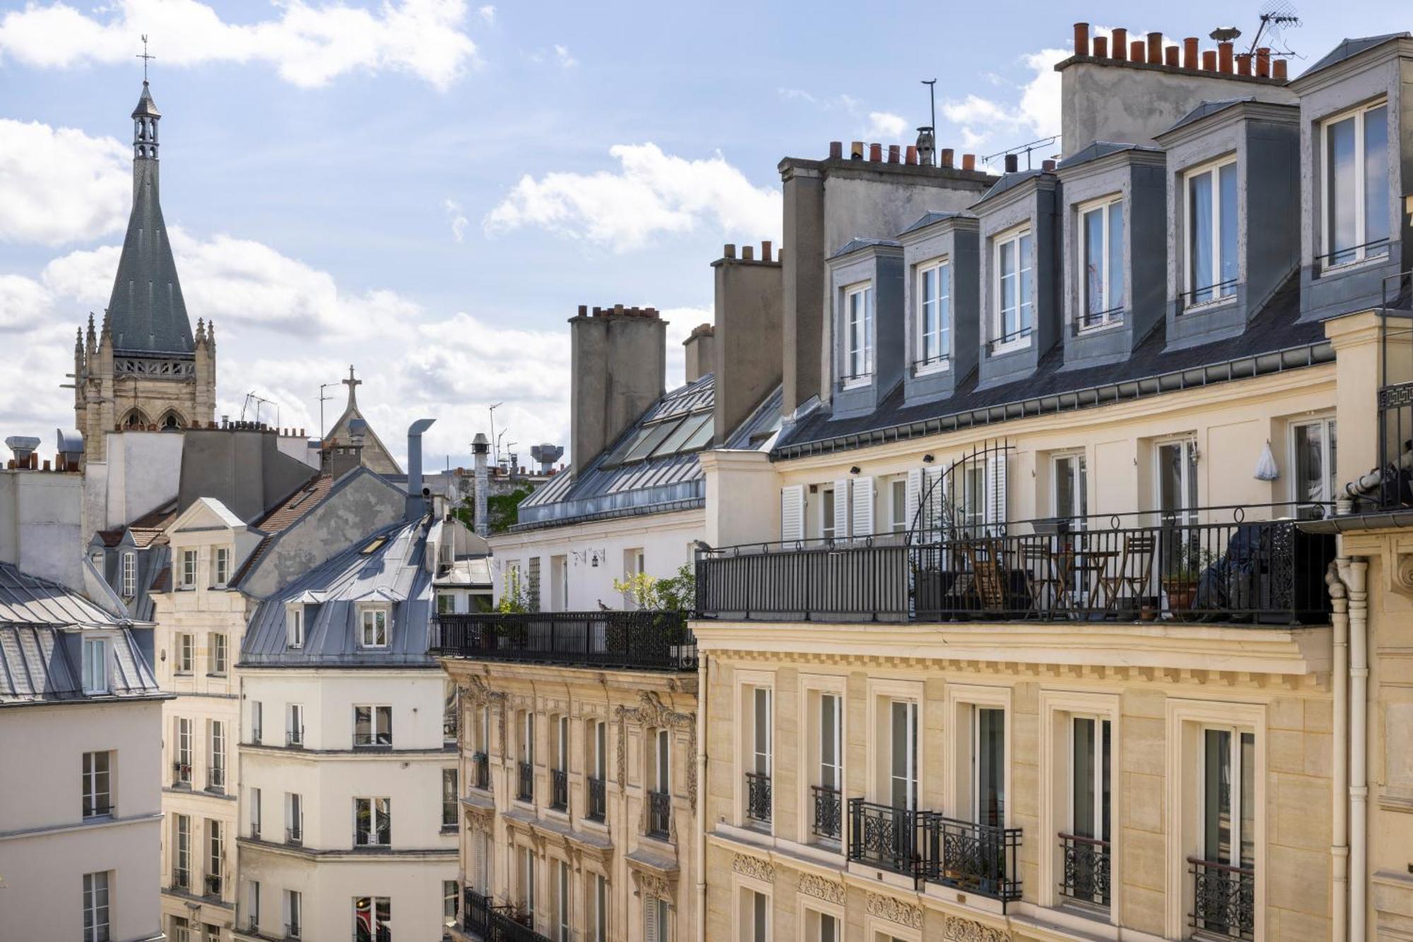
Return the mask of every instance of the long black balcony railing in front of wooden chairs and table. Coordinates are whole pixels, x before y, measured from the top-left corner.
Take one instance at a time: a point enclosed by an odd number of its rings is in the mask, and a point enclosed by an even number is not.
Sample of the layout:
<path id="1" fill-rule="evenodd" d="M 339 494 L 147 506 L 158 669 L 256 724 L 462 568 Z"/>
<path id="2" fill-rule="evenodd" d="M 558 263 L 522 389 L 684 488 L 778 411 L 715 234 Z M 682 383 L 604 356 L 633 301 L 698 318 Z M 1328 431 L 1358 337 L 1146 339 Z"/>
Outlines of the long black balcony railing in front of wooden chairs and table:
<path id="1" fill-rule="evenodd" d="M 1306 533 L 1293 518 L 1327 509 L 1246 505 L 753 543 L 702 553 L 697 597 L 708 618 L 1323 624 L 1334 536 Z"/>

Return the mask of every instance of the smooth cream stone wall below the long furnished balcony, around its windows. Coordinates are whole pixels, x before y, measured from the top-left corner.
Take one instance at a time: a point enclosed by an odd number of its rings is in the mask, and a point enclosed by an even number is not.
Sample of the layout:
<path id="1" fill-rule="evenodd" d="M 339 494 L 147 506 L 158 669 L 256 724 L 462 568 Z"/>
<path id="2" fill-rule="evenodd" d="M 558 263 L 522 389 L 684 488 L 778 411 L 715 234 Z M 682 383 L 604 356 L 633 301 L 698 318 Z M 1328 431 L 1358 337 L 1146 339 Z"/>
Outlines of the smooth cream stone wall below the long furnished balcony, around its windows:
<path id="1" fill-rule="evenodd" d="M 1186 938 L 1198 851 L 1193 793 L 1202 724 L 1252 728 L 1258 761 L 1259 939 L 1330 938 L 1330 628 L 1091 624 L 694 622 L 708 658 L 708 939 L 747 939 L 739 894 L 771 895 L 774 941 L 805 939 L 803 909 L 836 911 L 848 939 Z M 774 692 L 771 826 L 740 818 L 743 683 Z M 1006 825 L 1023 832 L 1023 898 L 1000 902 L 849 863 L 810 837 L 801 719 L 810 687 L 844 692 L 845 799 L 877 795 L 880 735 L 870 697 L 920 699 L 918 808 L 969 819 L 959 704 L 1005 704 Z M 1068 714 L 1111 719 L 1113 758 L 1109 912 L 1065 905 L 1056 887 Z M 1184 791 L 1186 789 L 1186 791 Z M 1186 805 L 1186 806 L 1184 806 Z M 846 816 L 846 812 L 845 812 Z M 848 826 L 845 825 L 845 833 Z M 745 859 L 745 860 L 743 860 Z M 728 877 L 729 874 L 729 877 Z M 764 887 L 764 890 L 762 890 Z M 832 909 L 831 909 L 832 907 Z"/>

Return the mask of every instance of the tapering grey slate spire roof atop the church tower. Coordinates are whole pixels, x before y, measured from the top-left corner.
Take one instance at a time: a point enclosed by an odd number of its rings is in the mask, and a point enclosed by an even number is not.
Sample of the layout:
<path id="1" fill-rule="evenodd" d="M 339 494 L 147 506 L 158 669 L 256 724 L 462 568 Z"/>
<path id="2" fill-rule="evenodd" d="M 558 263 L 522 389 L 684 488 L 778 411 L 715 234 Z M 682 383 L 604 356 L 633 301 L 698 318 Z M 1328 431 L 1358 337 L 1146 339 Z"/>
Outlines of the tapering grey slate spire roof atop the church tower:
<path id="1" fill-rule="evenodd" d="M 119 355 L 191 356 L 191 321 L 160 201 L 158 120 L 161 113 L 143 82 L 133 109 L 133 214 L 107 303 L 107 330 Z"/>

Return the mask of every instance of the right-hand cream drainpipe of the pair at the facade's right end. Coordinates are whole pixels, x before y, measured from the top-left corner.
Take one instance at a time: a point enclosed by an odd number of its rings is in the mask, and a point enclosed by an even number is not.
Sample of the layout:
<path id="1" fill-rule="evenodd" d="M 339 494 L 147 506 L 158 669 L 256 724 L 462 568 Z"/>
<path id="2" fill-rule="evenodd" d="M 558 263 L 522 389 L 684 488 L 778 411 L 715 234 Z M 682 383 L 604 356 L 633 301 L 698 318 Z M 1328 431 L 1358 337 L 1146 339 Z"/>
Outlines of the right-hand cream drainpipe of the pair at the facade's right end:
<path id="1" fill-rule="evenodd" d="M 1365 942 L 1369 861 L 1369 563 L 1341 557 L 1349 591 L 1349 938 Z"/>

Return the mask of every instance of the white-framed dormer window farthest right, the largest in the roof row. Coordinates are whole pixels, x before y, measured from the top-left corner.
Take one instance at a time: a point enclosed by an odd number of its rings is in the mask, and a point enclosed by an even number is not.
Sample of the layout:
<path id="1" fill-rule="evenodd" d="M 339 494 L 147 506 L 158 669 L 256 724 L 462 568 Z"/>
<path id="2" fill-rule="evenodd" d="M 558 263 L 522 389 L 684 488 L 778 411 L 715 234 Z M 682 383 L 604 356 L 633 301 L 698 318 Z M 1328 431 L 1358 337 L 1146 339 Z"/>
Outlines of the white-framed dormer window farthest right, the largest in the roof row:
<path id="1" fill-rule="evenodd" d="M 1320 126 L 1324 266 L 1389 253 L 1389 107 L 1365 105 Z"/>

